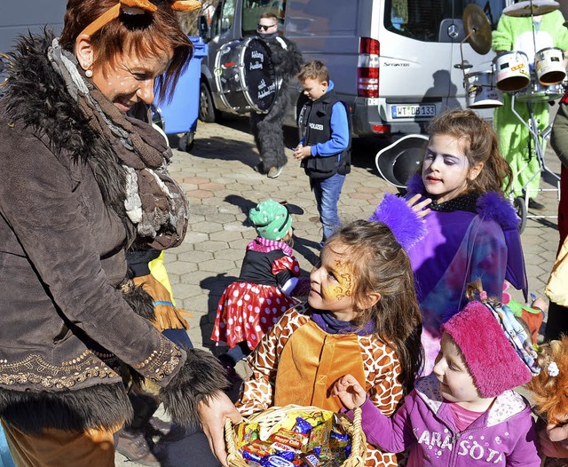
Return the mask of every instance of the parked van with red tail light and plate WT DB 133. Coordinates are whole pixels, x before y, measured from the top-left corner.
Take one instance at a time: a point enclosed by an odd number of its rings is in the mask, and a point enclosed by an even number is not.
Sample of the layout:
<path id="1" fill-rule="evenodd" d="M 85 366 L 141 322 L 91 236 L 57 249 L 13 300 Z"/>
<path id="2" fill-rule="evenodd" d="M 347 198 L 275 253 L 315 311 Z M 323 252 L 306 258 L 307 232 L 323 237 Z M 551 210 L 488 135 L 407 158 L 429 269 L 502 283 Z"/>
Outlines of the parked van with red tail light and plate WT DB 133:
<path id="1" fill-rule="evenodd" d="M 280 31 L 304 59 L 329 69 L 335 91 L 352 108 L 355 136 L 400 136 L 424 131 L 446 108 L 466 107 L 464 72 L 491 70 L 493 51 L 480 55 L 464 39 L 463 11 L 477 4 L 491 28 L 512 0 L 220 0 L 201 23 L 209 56 L 201 61 L 200 118 L 231 111 L 214 78 L 217 50 L 255 34 L 262 12 L 275 12 Z M 463 57 L 463 60 L 462 60 Z M 299 92 L 288 96 L 297 112 Z M 481 110 L 491 118 L 492 109 Z M 295 112 L 287 123 L 295 124 Z"/>

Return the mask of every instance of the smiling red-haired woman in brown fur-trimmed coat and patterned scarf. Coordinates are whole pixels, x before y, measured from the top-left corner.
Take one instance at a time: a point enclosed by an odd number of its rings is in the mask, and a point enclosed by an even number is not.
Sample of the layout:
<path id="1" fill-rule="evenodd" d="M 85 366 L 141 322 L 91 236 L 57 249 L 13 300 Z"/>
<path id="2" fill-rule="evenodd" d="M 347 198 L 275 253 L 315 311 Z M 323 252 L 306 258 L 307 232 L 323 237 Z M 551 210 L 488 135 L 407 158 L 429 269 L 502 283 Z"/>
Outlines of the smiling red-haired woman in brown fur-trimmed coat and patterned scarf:
<path id="1" fill-rule="evenodd" d="M 173 8 L 193 1 L 69 0 L 59 38 L 20 38 L 0 100 L 0 416 L 16 464 L 114 465 L 132 415 L 122 368 L 160 387 L 221 463 L 240 415 L 208 352 L 186 350 L 127 302 L 147 297 L 125 251 L 183 241 L 187 204 L 170 148 L 127 115 L 183 72 L 192 46 Z M 63 454 L 62 454 L 63 453 Z M 64 458 L 62 458 L 62 455 Z M 199 461 L 199 459 L 197 460 Z M 203 465 L 204 463 L 200 463 Z"/>

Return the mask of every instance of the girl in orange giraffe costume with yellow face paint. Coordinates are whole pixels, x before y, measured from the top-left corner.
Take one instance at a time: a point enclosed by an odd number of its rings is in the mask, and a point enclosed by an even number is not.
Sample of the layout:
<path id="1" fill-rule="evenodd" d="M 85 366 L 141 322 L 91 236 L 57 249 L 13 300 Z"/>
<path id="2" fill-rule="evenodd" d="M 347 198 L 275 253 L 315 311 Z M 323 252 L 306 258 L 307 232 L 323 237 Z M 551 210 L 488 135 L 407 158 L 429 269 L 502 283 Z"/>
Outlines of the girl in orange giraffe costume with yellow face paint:
<path id="1" fill-rule="evenodd" d="M 283 313 L 248 357 L 252 376 L 237 404 L 243 416 L 288 404 L 337 412 L 343 404 L 331 390 L 347 374 L 390 416 L 413 387 L 420 310 L 410 261 L 390 227 L 365 220 L 342 226 L 320 259 L 307 303 Z M 372 446 L 365 462 L 397 465 Z"/>

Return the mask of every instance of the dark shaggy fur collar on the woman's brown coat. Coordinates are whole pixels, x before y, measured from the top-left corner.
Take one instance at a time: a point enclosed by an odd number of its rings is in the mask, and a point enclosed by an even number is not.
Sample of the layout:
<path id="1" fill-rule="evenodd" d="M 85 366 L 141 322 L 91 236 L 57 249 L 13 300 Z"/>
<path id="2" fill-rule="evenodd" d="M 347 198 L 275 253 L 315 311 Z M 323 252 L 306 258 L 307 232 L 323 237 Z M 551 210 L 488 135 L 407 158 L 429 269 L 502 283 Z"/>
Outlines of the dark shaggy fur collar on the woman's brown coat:
<path id="1" fill-rule="evenodd" d="M 124 209 L 125 171 L 111 147 L 91 129 L 51 67 L 47 50 L 53 37 L 46 30 L 43 35 L 21 36 L 16 42 L 1 111 L 10 122 L 32 131 L 69 170 L 88 164 L 106 206 L 121 218 L 131 241 L 134 226 Z"/>

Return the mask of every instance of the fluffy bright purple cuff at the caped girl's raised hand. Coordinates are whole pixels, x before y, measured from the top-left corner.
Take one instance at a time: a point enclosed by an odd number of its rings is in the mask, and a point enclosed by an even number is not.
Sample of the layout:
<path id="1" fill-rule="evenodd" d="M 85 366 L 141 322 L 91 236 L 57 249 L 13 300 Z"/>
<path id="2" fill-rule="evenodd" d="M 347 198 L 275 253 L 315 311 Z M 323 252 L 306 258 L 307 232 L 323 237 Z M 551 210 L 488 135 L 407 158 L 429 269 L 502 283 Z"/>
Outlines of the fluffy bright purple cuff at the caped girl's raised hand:
<path id="1" fill-rule="evenodd" d="M 404 198 L 396 194 L 384 194 L 383 201 L 369 220 L 386 224 L 406 252 L 426 234 L 426 225 L 422 218 L 406 206 Z"/>

